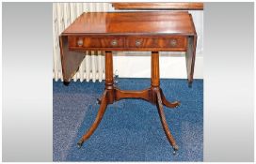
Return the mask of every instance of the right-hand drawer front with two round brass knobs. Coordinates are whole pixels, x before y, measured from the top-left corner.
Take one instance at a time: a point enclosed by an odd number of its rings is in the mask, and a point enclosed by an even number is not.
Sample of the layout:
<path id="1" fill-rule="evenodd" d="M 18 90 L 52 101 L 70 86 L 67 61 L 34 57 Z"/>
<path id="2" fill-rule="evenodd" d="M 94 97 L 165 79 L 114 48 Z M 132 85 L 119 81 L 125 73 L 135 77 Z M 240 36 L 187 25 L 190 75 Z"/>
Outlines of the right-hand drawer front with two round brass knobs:
<path id="1" fill-rule="evenodd" d="M 173 49 L 174 51 L 186 50 L 186 37 L 128 37 L 127 48 L 136 49 Z"/>

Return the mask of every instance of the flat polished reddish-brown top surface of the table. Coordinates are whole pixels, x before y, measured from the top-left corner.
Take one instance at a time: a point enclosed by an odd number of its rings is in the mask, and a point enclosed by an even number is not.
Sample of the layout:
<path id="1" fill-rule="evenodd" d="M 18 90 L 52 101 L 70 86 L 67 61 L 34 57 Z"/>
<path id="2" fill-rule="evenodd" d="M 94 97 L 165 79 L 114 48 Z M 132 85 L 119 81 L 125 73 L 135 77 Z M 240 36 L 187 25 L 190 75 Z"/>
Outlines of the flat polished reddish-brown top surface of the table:
<path id="1" fill-rule="evenodd" d="M 62 33 L 95 35 L 196 35 L 187 11 L 88 12 Z"/>

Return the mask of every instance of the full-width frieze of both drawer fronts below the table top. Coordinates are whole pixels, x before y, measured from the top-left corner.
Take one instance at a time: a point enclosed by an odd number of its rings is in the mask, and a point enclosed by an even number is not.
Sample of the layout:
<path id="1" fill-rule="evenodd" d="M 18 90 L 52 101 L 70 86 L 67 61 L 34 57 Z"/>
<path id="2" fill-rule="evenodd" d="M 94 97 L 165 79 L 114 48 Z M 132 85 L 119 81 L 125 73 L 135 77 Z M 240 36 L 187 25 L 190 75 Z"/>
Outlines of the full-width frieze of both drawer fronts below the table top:
<path id="1" fill-rule="evenodd" d="M 186 51 L 187 38 L 171 37 L 69 37 L 69 47 L 80 50 Z"/>

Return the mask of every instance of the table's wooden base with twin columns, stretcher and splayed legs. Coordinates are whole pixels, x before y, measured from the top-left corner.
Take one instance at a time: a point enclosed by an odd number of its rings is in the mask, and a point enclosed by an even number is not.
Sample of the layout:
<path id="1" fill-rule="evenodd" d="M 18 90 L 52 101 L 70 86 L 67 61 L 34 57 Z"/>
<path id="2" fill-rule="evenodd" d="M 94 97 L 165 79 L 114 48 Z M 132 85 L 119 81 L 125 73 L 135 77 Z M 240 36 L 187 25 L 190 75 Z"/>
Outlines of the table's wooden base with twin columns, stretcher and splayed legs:
<path id="1" fill-rule="evenodd" d="M 103 97 L 99 100 L 101 104 L 96 119 L 91 127 L 89 127 L 87 133 L 77 143 L 78 147 L 81 147 L 83 142 L 93 134 L 95 129 L 99 126 L 107 104 L 112 104 L 114 101 L 118 101 L 122 98 L 141 98 L 156 104 L 162 126 L 168 138 L 168 142 L 174 149 L 174 152 L 178 150 L 178 146 L 172 137 L 168 128 L 167 120 L 163 110 L 163 105 L 169 108 L 175 108 L 180 103 L 178 101 L 168 102 L 160 88 L 160 75 L 159 75 L 159 52 L 152 52 L 152 79 L 151 87 L 141 91 L 124 91 L 114 86 L 113 80 L 113 54 L 112 52 L 105 52 L 105 90 Z"/>

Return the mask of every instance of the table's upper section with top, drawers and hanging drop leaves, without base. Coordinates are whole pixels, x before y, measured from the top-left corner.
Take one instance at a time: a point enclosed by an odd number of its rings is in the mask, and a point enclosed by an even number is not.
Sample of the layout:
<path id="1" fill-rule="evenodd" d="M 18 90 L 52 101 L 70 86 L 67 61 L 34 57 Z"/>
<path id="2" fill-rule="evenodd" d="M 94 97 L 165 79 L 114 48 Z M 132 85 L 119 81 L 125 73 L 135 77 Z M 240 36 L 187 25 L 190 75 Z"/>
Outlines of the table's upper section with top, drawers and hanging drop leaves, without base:
<path id="1" fill-rule="evenodd" d="M 60 35 L 63 79 L 72 80 L 85 52 L 186 52 L 191 83 L 196 46 L 196 29 L 187 11 L 85 12 Z"/>

